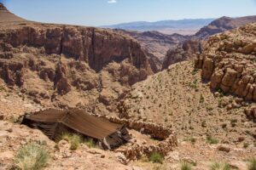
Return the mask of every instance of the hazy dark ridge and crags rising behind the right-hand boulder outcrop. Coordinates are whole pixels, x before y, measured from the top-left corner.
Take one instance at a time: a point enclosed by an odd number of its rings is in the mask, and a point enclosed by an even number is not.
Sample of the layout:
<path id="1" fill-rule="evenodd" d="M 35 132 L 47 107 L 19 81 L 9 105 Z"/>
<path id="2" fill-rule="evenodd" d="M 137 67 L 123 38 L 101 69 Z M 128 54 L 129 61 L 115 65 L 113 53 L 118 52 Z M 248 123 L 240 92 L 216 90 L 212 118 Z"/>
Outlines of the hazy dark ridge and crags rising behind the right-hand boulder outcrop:
<path id="1" fill-rule="evenodd" d="M 203 44 L 208 37 L 220 32 L 237 28 L 239 26 L 244 26 L 255 21 L 256 16 L 246 16 L 235 19 L 222 17 L 218 20 L 213 20 L 212 23 L 201 28 L 201 30 L 198 31 L 194 36 L 189 37 L 189 40 L 184 41 L 182 45 L 170 48 L 166 54 L 162 69 L 164 70 L 169 65 L 172 65 L 178 61 L 195 59 L 196 53 L 201 53 L 201 49 L 204 46 Z M 184 46 L 187 48 L 184 48 Z"/>

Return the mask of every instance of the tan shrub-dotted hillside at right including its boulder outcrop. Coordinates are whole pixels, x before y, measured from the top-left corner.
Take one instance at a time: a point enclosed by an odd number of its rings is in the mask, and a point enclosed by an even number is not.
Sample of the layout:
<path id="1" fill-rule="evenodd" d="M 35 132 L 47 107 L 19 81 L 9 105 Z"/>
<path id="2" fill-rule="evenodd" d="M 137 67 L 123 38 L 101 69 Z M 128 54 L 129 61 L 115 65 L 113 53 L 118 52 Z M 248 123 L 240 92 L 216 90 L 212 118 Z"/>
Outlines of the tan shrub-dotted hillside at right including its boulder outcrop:
<path id="1" fill-rule="evenodd" d="M 251 24 L 210 37 L 195 60 L 201 71 L 184 61 L 138 82 L 120 102 L 122 116 L 174 127 L 179 138 L 253 144 L 255 28 Z"/>

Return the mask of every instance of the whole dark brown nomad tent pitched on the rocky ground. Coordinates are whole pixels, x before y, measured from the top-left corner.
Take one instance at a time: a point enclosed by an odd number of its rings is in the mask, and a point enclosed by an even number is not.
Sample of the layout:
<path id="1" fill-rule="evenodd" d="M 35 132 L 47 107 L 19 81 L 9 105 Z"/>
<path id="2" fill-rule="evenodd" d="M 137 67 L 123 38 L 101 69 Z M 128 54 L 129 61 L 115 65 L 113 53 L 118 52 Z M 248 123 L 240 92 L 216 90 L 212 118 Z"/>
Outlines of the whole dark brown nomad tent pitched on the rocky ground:
<path id="1" fill-rule="evenodd" d="M 125 126 L 90 116 L 80 110 L 38 111 L 31 116 L 25 116 L 22 124 L 38 128 L 49 139 L 55 140 L 61 139 L 63 133 L 80 133 L 84 137 L 95 139 L 103 149 L 108 150 L 117 148 L 130 139 Z"/>

